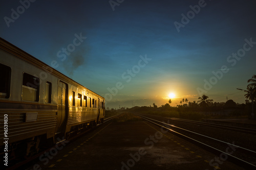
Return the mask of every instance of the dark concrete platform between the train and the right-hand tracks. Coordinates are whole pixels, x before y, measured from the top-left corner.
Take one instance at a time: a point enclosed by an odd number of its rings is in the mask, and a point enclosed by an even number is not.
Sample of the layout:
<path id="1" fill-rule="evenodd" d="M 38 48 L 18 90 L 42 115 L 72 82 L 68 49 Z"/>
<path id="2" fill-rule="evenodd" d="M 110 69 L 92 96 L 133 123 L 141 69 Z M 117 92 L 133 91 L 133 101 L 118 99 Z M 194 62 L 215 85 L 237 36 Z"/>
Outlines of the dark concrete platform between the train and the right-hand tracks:
<path id="1" fill-rule="evenodd" d="M 113 122 L 26 169 L 244 169 L 222 159 L 148 122 Z"/>

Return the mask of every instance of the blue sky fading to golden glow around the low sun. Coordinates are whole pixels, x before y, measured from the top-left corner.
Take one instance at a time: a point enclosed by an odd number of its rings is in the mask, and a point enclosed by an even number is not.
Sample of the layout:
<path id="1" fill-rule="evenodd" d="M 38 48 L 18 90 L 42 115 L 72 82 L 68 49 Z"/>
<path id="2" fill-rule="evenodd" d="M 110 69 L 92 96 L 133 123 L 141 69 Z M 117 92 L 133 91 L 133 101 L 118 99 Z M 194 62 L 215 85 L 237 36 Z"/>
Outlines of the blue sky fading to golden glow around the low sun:
<path id="1" fill-rule="evenodd" d="M 0 37 L 105 98 L 106 108 L 245 103 L 255 1 L 3 1 Z"/>

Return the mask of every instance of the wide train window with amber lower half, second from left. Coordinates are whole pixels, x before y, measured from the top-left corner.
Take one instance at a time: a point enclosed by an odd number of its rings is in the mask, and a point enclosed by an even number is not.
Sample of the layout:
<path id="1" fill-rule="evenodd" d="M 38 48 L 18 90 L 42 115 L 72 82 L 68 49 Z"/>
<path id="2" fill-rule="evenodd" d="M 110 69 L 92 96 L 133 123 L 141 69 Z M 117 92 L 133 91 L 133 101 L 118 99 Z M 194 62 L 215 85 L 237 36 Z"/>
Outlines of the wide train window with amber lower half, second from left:
<path id="1" fill-rule="evenodd" d="M 23 74 L 23 83 L 22 83 L 22 100 L 24 101 L 39 101 L 39 84 L 40 79 L 27 74 Z"/>

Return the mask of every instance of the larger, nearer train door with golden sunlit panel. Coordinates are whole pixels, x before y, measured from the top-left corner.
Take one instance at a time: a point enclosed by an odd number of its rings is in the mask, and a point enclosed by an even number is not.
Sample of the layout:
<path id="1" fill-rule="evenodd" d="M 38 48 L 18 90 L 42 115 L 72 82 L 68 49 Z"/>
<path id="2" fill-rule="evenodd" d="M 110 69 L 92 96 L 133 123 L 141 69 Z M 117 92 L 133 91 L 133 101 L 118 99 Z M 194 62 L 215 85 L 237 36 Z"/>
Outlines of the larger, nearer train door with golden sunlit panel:
<path id="1" fill-rule="evenodd" d="M 68 113 L 68 85 L 59 81 L 58 84 L 58 113 L 55 134 L 65 133 Z M 62 134 L 64 135 L 64 134 Z"/>

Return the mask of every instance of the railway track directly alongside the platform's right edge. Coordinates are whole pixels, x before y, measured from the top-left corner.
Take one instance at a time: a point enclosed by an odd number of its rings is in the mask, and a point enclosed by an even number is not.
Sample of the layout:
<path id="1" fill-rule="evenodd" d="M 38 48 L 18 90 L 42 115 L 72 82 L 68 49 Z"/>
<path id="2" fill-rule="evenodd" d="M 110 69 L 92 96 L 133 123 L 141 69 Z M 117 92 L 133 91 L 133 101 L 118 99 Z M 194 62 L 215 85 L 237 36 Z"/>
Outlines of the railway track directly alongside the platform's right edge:
<path id="1" fill-rule="evenodd" d="M 192 131 L 191 129 L 188 130 L 188 129 L 184 129 L 184 128 L 172 125 L 170 123 L 164 123 L 163 120 L 160 120 L 161 118 L 156 119 L 156 118 L 151 118 L 143 115 L 138 115 L 138 116 L 147 120 L 150 123 L 153 123 L 159 127 L 163 127 L 169 130 L 169 132 L 177 136 L 180 136 L 186 140 L 189 140 L 190 142 L 198 144 L 210 152 L 214 152 L 215 154 L 220 155 L 219 157 L 222 158 L 223 161 L 228 159 L 248 169 L 256 168 L 256 151 L 254 150 L 241 147 L 237 144 L 234 144 L 234 142 L 226 142 L 208 135 L 203 135 L 203 134 L 200 134 L 199 132 Z M 184 122 L 188 123 L 189 121 L 186 122 L 184 120 Z M 224 128 L 224 127 L 221 127 L 221 128 Z"/>

